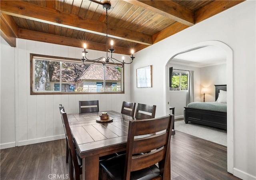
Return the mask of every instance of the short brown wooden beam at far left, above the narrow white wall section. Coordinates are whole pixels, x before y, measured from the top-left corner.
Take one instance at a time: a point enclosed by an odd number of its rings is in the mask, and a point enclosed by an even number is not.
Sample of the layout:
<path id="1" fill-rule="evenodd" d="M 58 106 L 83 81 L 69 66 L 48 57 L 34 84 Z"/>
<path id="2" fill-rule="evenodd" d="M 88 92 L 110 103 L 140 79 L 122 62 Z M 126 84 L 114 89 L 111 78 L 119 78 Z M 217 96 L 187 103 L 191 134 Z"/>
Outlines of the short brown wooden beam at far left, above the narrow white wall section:
<path id="1" fill-rule="evenodd" d="M 1 13 L 0 34 L 2 38 L 11 46 L 16 47 L 16 38 L 18 38 L 18 26 L 13 18 Z"/>

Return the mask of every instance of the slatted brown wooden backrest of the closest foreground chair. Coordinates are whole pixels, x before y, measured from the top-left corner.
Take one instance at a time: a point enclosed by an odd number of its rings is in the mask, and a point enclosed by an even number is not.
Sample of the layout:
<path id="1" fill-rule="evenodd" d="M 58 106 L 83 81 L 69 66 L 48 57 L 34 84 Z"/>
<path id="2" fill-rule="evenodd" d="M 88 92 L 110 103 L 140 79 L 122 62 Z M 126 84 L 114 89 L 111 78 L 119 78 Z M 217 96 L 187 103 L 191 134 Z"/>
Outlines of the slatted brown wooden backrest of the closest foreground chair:
<path id="1" fill-rule="evenodd" d="M 130 179 L 130 172 L 159 163 L 163 177 L 168 161 L 174 115 L 160 118 L 130 120 L 126 146 L 124 179 Z"/>

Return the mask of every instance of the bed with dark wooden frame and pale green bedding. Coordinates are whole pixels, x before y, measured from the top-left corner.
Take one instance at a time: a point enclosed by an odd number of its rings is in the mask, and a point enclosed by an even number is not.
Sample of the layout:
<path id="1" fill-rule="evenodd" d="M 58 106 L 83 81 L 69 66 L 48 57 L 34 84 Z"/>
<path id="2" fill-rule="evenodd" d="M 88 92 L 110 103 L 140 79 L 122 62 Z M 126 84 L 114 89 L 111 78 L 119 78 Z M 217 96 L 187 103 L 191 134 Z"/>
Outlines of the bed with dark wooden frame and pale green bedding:
<path id="1" fill-rule="evenodd" d="M 227 91 L 227 85 L 214 85 L 215 86 L 215 101 L 218 102 L 218 97 L 220 93 Z M 216 106 L 215 107 L 214 103 Z M 187 124 L 188 122 L 198 123 L 202 125 L 208 125 L 212 127 L 217 127 L 221 129 L 227 129 L 227 112 L 226 112 L 226 103 L 202 103 L 194 102 L 188 104 L 187 107 L 184 107 L 184 121 Z M 195 104 L 195 106 L 194 106 Z M 208 105 L 210 104 L 210 105 Z M 207 107 L 204 108 L 203 106 Z M 213 109 L 211 109 L 213 107 Z"/>

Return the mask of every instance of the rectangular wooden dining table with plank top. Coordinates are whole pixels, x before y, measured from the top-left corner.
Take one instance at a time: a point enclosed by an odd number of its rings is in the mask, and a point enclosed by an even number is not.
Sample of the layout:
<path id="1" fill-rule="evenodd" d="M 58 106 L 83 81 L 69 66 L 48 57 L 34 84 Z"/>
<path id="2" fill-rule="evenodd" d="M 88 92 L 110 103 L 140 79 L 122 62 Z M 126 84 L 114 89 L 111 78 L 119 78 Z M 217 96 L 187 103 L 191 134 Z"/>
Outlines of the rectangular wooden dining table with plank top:
<path id="1" fill-rule="evenodd" d="M 116 111 L 104 112 L 109 115 L 107 122 L 100 121 L 101 112 L 67 114 L 74 143 L 82 159 L 83 180 L 98 180 L 101 156 L 126 150 L 129 121 L 134 118 Z M 168 154 L 170 157 L 170 152 Z M 165 179 L 170 179 L 169 160 Z"/>

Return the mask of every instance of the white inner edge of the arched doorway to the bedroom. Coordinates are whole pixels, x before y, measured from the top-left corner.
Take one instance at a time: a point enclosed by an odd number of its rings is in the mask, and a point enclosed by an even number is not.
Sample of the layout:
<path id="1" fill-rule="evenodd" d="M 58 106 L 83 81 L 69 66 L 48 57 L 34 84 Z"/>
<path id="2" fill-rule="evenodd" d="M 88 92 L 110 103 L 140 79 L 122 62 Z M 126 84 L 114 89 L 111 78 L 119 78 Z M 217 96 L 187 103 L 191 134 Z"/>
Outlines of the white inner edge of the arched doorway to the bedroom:
<path id="1" fill-rule="evenodd" d="M 227 166 L 228 166 L 228 172 L 233 174 L 233 167 L 234 167 L 234 107 L 233 107 L 233 51 L 232 49 L 220 41 L 206 41 L 201 42 L 198 44 L 191 45 L 189 47 L 182 48 L 170 55 L 170 59 L 166 62 L 165 65 L 165 93 L 166 93 L 166 112 L 169 112 L 169 83 L 168 83 L 168 64 L 170 61 L 178 54 L 185 53 L 188 51 L 193 51 L 195 49 L 199 49 L 202 47 L 207 46 L 216 46 L 220 49 L 223 49 L 226 52 L 226 62 L 227 62 Z"/>

